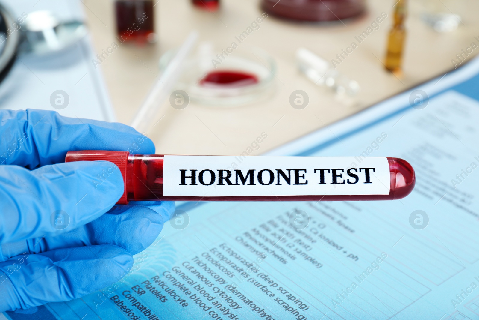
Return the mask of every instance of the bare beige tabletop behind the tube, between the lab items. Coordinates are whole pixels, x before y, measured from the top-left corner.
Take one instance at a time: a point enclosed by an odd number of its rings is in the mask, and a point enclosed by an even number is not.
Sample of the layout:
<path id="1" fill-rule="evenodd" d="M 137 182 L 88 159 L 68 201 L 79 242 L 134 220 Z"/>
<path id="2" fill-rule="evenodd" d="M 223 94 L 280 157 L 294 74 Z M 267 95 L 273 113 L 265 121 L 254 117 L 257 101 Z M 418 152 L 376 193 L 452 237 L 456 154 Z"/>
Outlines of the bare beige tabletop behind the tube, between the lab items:
<path id="1" fill-rule="evenodd" d="M 452 9 L 461 11 L 463 16 L 463 24 L 446 34 L 436 33 L 423 24 L 421 4 L 410 1 L 404 75 L 398 79 L 386 72 L 380 61 L 384 57 L 395 2 L 370 0 L 369 11 L 363 18 L 327 26 L 285 23 L 270 16 L 244 44 L 262 47 L 276 60 L 275 95 L 260 104 L 234 108 L 190 103 L 187 108 L 176 110 L 166 102 L 158 116 L 158 119 L 163 115 L 164 118 L 148 132 L 157 153 L 237 155 L 265 132 L 268 137 L 252 154 L 264 153 L 418 83 L 441 77 L 453 68 L 451 59 L 456 54 L 471 42 L 478 42 L 474 37 L 479 37 L 479 1 L 441 1 L 447 6 L 445 12 Z M 113 1 L 83 0 L 83 4 L 94 47 L 101 52 L 115 41 Z M 217 48 L 225 48 L 262 13 L 258 0 L 222 0 L 222 8 L 215 14 L 196 10 L 188 0 L 160 0 L 154 9 L 159 41 L 147 47 L 122 44 L 99 66 L 117 119 L 123 123 L 130 122 L 159 77 L 160 56 L 179 47 L 192 29 L 200 32 L 200 40 L 211 40 Z M 298 47 L 307 47 L 331 60 L 355 41 L 354 36 L 365 31 L 381 12 L 386 12 L 388 18 L 380 28 L 337 67 L 361 86 L 354 105 L 338 102 L 331 92 L 314 86 L 297 71 L 294 57 Z M 309 95 L 309 105 L 302 110 L 289 104 L 289 96 L 297 89 Z"/>

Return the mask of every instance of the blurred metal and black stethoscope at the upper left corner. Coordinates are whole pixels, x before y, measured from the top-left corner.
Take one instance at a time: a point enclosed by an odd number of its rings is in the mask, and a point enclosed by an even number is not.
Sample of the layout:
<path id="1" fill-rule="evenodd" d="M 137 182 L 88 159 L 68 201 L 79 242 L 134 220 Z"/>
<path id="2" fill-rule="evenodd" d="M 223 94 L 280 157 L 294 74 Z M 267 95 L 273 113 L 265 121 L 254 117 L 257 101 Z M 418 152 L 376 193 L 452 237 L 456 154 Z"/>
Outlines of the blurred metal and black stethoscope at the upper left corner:
<path id="1" fill-rule="evenodd" d="M 46 55 L 66 49 L 87 35 L 80 21 L 61 22 L 53 12 L 42 10 L 14 18 L 0 4 L 0 82 L 19 54 Z"/>

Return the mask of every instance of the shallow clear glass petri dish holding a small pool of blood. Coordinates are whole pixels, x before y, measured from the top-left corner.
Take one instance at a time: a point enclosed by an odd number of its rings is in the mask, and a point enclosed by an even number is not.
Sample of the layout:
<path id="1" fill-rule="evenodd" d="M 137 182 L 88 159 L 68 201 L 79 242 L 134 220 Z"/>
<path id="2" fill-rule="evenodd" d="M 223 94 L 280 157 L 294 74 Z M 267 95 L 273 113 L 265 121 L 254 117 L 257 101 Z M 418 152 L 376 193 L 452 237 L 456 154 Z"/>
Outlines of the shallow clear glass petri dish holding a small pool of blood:
<path id="1" fill-rule="evenodd" d="M 174 56 L 160 58 L 160 71 Z M 192 102 L 209 107 L 235 107 L 266 100 L 274 93 L 276 62 L 258 47 L 214 48 L 201 43 L 184 62 L 175 87 L 185 91 Z"/>

